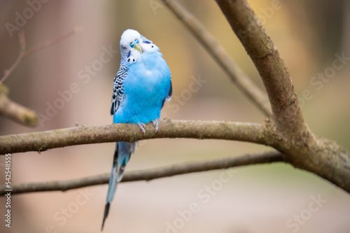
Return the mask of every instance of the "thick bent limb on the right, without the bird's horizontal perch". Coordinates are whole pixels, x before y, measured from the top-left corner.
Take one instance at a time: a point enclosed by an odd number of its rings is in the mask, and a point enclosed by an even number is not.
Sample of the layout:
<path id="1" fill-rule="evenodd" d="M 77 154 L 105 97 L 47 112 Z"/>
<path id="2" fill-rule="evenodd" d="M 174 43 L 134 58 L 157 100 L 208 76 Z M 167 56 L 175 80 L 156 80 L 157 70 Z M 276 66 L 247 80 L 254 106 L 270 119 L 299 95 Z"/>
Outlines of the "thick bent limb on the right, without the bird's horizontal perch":
<path id="1" fill-rule="evenodd" d="M 246 0 L 216 0 L 255 64 L 272 106 L 274 148 L 295 167 L 314 172 L 350 192 L 350 153 L 319 139 L 304 122 L 286 65 Z"/>

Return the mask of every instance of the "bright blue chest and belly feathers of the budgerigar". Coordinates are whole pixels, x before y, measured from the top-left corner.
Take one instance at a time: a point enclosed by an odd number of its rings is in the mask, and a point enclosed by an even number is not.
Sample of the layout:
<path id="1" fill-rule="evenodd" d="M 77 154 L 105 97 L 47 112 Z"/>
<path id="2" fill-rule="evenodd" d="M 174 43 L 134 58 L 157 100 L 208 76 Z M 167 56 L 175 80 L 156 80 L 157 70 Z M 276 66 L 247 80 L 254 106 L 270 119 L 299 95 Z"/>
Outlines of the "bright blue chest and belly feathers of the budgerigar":
<path id="1" fill-rule="evenodd" d="M 160 118 L 162 102 L 170 89 L 171 75 L 160 52 L 144 52 L 127 64 L 124 99 L 113 116 L 114 123 L 147 124 Z"/>

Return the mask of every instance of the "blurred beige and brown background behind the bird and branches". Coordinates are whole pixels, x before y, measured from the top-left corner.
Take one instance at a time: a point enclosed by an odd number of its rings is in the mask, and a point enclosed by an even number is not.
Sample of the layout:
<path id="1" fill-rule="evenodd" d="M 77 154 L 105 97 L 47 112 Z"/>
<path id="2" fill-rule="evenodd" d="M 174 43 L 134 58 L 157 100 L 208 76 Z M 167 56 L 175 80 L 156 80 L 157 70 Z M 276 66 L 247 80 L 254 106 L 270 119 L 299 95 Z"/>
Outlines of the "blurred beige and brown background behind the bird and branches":
<path id="1" fill-rule="evenodd" d="M 255 67 L 215 1 L 181 3 L 262 87 Z M 288 66 L 300 101 L 304 100 L 302 109 L 309 127 L 318 136 L 333 139 L 350 150 L 349 59 L 338 61 L 337 64 L 343 64 L 342 69 L 328 75 L 329 78 L 319 76 L 331 70 L 337 57 L 350 57 L 350 2 L 251 0 L 249 3 Z M 18 20 L 24 15 L 27 20 Z M 13 31 L 6 28 L 8 23 L 15 26 Z M 265 120 L 186 27 L 158 0 L 0 0 L 0 25 L 1 71 L 8 69 L 18 57 L 19 29 L 25 31 L 27 48 L 31 48 L 77 26 L 83 28 L 66 40 L 26 57 L 8 77 L 4 84 L 10 88 L 10 98 L 40 113 L 41 122 L 34 128 L 24 127 L 0 117 L 1 135 L 74 127 L 76 122 L 111 124 L 109 109 L 113 77 L 120 63 L 119 41 L 128 28 L 136 29 L 158 45 L 172 71 L 174 94 L 162 111 L 163 118 Z M 199 85 L 196 80 L 205 82 Z M 75 86 L 75 93 L 71 92 L 71 85 Z M 193 85 L 198 88 L 191 92 Z M 305 90 L 312 97 L 304 99 Z M 68 92 L 71 95 L 60 102 L 60 109 L 48 110 L 57 105 L 57 99 L 62 99 L 59 93 Z M 141 141 L 127 171 L 260 150 L 269 148 L 235 141 Z M 113 151 L 114 143 L 104 143 L 58 148 L 40 155 L 13 154 L 12 183 L 107 173 Z M 3 156 L 0 164 L 3 184 Z M 226 183 L 221 181 L 223 171 L 122 183 L 104 232 L 350 232 L 350 196 L 323 178 L 282 163 L 229 171 L 234 175 L 224 174 L 228 178 Z M 206 187 L 215 192 L 205 191 Z M 107 185 L 98 185 L 67 192 L 13 195 L 12 227 L 4 227 L 1 220 L 0 232 L 99 232 L 106 192 Z M 197 209 L 189 214 L 191 205 L 197 205 Z M 0 210 L 3 216 L 4 197 L 0 197 Z"/>

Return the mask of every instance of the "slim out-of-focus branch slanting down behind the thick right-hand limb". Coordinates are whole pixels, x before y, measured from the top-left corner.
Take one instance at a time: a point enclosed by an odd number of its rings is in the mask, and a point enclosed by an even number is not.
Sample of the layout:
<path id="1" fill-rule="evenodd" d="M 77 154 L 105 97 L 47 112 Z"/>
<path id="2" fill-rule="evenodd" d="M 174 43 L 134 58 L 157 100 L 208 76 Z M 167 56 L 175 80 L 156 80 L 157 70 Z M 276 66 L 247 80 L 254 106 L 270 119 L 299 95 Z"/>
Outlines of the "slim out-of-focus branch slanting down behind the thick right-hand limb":
<path id="1" fill-rule="evenodd" d="M 241 90 L 248 99 L 253 101 L 255 106 L 258 106 L 260 111 L 266 116 L 272 115 L 271 107 L 269 106 L 269 99 L 267 95 L 255 85 L 251 79 L 244 73 L 237 64 L 225 52 L 223 47 L 216 41 L 203 24 L 197 20 L 181 3 L 177 0 L 162 0 L 176 17 L 188 27 L 190 32 L 197 38 L 204 48 L 209 52 L 211 57 L 221 66 L 221 68 L 228 74 L 230 79 L 235 83 L 239 90 Z"/>

